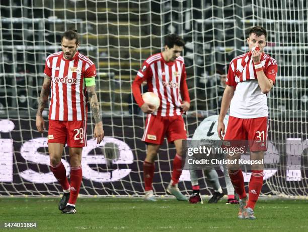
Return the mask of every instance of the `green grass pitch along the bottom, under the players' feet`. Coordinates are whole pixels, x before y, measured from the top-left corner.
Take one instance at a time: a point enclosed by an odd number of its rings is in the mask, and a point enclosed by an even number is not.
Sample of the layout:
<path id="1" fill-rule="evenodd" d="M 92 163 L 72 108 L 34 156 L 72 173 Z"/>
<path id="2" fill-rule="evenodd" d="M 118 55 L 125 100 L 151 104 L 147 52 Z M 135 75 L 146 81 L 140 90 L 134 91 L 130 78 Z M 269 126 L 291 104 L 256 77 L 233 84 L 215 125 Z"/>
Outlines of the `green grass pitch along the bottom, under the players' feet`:
<path id="1" fill-rule="evenodd" d="M 261 200 L 257 220 L 238 219 L 238 207 L 225 200 L 191 205 L 164 198 L 81 198 L 72 215 L 60 213 L 58 200 L 0 198 L 0 230 L 4 222 L 36 222 L 37 231 L 308 231 L 307 200 Z"/>

